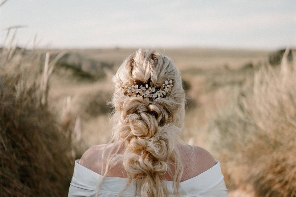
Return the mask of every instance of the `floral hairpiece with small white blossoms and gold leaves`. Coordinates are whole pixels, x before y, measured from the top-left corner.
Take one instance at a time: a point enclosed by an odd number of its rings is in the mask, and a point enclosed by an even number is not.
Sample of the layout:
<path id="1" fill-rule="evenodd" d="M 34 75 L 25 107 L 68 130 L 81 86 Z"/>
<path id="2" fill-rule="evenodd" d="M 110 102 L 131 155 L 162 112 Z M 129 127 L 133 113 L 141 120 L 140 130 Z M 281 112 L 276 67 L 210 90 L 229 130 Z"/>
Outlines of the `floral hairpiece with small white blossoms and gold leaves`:
<path id="1" fill-rule="evenodd" d="M 153 85 L 153 82 L 150 82 L 150 86 L 148 84 L 139 85 L 128 85 L 122 86 L 122 81 L 117 83 L 118 88 L 123 90 L 123 93 L 128 96 L 138 96 L 141 98 L 153 98 L 159 100 L 167 95 L 167 92 L 171 92 L 173 87 L 173 81 L 171 79 L 167 79 L 162 84 L 161 88 L 156 90 L 156 86 Z M 118 94 L 118 92 L 117 92 Z"/>

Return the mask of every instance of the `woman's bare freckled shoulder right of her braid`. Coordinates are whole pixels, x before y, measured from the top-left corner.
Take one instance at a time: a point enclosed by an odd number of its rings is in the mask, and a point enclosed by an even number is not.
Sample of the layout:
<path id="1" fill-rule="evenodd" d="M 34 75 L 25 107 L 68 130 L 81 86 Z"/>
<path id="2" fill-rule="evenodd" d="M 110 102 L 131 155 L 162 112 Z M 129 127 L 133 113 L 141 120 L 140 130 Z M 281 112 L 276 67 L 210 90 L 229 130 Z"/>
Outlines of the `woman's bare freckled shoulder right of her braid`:
<path id="1" fill-rule="evenodd" d="M 183 151 L 187 153 L 184 153 Z M 185 180 L 207 171 L 216 164 L 213 156 L 202 147 L 187 146 L 187 148 L 184 148 L 183 151 L 180 151 L 181 155 L 188 155 L 189 153 L 188 157 L 183 158 L 185 165 L 183 179 Z"/>

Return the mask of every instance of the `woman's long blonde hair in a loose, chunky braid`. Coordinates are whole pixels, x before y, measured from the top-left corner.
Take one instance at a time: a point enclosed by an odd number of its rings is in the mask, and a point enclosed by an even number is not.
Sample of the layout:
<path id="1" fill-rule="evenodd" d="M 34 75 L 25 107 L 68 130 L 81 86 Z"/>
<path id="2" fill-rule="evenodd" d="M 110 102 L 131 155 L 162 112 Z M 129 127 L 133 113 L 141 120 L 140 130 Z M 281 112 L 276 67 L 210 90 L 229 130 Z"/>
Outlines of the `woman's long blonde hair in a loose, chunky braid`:
<path id="1" fill-rule="evenodd" d="M 157 88 L 167 78 L 173 81 L 174 86 L 164 98 L 157 100 L 118 94 L 120 88 L 115 87 L 111 101 L 115 110 L 109 143 L 121 143 L 124 153 L 117 154 L 119 147 L 115 150 L 114 146 L 102 174 L 105 177 L 109 165 L 121 161 L 129 180 L 125 189 L 135 179 L 135 195 L 140 193 L 142 197 L 167 196 L 167 186 L 162 181 L 166 173 L 173 180 L 173 193 L 179 196 L 183 164 L 175 143 L 182 143 L 178 132 L 184 126 L 185 92 L 175 63 L 155 50 L 137 50 L 124 60 L 113 77 L 114 83 L 140 86 L 152 82 Z M 102 158 L 104 154 L 105 149 Z"/>

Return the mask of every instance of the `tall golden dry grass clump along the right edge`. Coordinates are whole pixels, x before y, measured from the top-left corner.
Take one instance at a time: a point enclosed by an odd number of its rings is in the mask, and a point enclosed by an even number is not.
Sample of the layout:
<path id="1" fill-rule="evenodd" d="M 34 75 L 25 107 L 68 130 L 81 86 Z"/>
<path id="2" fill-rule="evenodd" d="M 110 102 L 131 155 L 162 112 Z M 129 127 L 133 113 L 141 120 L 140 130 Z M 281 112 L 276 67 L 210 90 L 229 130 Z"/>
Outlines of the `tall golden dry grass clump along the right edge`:
<path id="1" fill-rule="evenodd" d="M 263 66 L 213 122 L 229 189 L 296 196 L 295 66 L 285 56 L 280 67 Z"/>

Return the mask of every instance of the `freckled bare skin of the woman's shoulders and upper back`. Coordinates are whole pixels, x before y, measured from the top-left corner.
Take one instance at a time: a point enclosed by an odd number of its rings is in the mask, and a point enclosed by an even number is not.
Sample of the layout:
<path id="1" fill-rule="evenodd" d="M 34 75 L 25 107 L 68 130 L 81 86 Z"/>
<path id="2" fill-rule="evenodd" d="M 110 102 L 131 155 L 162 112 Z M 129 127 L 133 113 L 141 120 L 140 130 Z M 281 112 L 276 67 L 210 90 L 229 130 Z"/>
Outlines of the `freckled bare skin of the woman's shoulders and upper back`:
<path id="1" fill-rule="evenodd" d="M 110 144 L 106 149 L 106 154 L 111 150 L 112 144 Z M 80 159 L 80 164 L 98 174 L 101 174 L 101 155 L 105 145 L 96 145 L 89 148 L 82 155 Z M 177 144 L 176 147 L 180 151 L 181 161 L 184 164 L 184 171 L 181 178 L 181 182 L 192 177 L 199 175 L 200 173 L 213 167 L 216 162 L 212 155 L 205 149 L 197 146 L 187 146 L 183 144 Z M 123 147 L 121 147 L 119 154 L 122 154 Z M 104 161 L 105 166 L 105 161 Z M 170 166 L 171 170 L 174 171 L 174 166 Z M 107 176 L 115 177 L 126 177 L 122 163 L 117 163 L 116 165 L 110 167 Z M 163 178 L 164 180 L 172 181 L 171 177 L 166 174 Z"/>

